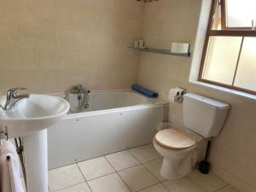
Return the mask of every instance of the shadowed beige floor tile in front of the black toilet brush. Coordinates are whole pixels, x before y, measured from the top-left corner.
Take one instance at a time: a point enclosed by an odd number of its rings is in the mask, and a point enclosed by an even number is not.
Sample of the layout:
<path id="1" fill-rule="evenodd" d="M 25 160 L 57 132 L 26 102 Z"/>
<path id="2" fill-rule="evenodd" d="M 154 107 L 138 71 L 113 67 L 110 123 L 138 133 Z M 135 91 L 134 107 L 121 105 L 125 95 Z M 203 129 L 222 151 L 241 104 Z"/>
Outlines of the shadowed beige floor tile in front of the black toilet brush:
<path id="1" fill-rule="evenodd" d="M 191 178 L 191 180 L 195 183 L 199 184 L 201 188 L 205 189 L 207 192 L 217 191 L 218 189 L 221 189 L 227 185 L 223 179 L 217 177 L 211 172 L 205 175 L 195 170 L 190 173 L 189 178 Z"/>

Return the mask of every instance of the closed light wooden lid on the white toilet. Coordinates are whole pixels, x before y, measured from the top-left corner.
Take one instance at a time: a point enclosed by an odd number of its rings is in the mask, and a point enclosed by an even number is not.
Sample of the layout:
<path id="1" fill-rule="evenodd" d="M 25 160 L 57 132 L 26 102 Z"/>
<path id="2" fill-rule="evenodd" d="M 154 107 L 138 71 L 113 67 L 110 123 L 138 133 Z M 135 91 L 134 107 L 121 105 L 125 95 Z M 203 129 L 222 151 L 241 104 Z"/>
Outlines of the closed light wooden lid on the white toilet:
<path id="1" fill-rule="evenodd" d="M 181 129 L 166 129 L 155 135 L 155 141 L 166 148 L 185 149 L 197 143 L 197 138 Z"/>

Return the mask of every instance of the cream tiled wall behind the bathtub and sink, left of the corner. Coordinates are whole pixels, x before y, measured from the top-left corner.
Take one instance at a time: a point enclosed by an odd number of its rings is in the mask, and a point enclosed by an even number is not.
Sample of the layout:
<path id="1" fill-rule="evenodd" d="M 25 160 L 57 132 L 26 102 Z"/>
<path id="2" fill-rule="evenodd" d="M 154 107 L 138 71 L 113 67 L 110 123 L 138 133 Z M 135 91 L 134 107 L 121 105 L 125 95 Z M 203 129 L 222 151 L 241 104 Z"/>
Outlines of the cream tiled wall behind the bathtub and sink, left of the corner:
<path id="1" fill-rule="evenodd" d="M 0 90 L 129 88 L 137 80 L 144 3 L 135 0 L 0 0 Z"/>

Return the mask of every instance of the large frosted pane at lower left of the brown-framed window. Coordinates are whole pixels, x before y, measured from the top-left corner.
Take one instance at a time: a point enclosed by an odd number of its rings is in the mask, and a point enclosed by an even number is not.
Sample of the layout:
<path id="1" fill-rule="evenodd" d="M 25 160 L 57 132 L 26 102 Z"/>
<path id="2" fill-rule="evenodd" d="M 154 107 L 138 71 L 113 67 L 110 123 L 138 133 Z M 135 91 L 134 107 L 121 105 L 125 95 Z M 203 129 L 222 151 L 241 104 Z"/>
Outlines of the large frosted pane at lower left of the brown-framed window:
<path id="1" fill-rule="evenodd" d="M 241 37 L 210 37 L 202 79 L 232 84 Z"/>

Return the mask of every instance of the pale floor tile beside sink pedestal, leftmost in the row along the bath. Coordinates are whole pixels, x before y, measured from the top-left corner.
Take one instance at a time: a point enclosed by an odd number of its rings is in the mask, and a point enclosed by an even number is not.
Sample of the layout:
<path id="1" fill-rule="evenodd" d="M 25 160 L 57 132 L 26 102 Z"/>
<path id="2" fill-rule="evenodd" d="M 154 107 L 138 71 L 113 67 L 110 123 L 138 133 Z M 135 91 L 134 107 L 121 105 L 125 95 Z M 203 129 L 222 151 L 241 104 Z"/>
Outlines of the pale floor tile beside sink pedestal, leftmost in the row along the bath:
<path id="1" fill-rule="evenodd" d="M 83 182 L 84 177 L 76 164 L 49 171 L 49 191 L 64 189 Z"/>

